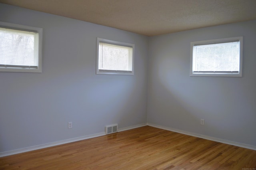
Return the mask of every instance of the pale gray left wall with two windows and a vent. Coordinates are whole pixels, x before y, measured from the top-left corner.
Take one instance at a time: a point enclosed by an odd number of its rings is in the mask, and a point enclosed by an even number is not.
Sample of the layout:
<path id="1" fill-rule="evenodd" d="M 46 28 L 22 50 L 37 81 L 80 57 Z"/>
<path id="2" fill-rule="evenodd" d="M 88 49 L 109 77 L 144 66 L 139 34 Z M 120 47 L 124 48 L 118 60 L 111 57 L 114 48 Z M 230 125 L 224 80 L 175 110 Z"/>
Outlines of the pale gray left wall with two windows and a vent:
<path id="1" fill-rule="evenodd" d="M 0 21 L 43 28 L 42 73 L 0 72 L 0 152 L 146 123 L 148 37 L 5 4 Z M 134 76 L 96 75 L 97 37 L 135 44 Z"/>

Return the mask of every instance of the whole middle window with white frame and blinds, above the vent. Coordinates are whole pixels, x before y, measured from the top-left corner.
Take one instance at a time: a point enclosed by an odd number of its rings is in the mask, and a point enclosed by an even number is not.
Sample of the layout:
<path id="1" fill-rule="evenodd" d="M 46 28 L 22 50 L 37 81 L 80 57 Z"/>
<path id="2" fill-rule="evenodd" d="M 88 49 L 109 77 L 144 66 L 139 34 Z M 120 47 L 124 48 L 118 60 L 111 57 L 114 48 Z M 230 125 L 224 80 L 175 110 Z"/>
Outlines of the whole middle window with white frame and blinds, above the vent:
<path id="1" fill-rule="evenodd" d="M 134 44 L 97 38 L 97 74 L 134 75 Z"/>

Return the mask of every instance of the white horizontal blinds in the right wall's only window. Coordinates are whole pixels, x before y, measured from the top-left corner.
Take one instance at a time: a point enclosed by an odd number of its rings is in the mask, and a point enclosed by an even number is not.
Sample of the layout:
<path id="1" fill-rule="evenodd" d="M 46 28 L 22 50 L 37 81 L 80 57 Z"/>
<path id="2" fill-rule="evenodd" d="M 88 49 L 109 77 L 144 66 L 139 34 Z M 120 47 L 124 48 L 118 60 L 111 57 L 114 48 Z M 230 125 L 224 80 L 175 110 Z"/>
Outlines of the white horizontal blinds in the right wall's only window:
<path id="1" fill-rule="evenodd" d="M 194 45 L 193 72 L 238 73 L 239 47 L 239 40 Z"/>

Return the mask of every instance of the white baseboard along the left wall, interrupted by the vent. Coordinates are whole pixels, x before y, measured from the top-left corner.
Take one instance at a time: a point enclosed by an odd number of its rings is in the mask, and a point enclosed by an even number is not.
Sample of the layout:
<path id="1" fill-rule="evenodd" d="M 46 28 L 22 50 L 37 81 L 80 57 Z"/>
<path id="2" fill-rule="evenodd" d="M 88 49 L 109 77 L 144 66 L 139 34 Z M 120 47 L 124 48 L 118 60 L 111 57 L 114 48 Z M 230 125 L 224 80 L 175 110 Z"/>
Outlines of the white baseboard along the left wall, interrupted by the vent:
<path id="1" fill-rule="evenodd" d="M 130 127 L 125 127 L 125 128 L 120 128 L 118 129 L 118 132 L 124 131 L 124 130 L 130 130 L 133 128 L 138 128 L 138 127 L 143 127 L 146 126 L 147 124 L 140 124 L 140 125 L 134 125 L 134 126 L 130 126 Z M 47 144 L 40 144 L 40 145 L 36 145 L 36 146 L 30 146 L 30 147 L 26 147 L 26 148 L 20 148 L 20 149 L 16 149 L 16 150 L 10 150 L 10 151 L 6 151 L 6 152 L 0 152 L 0 157 L 4 157 L 4 156 L 9 156 L 9 155 L 13 155 L 13 154 L 19 154 L 19 153 L 23 153 L 23 152 L 28 152 L 28 151 L 32 151 L 32 150 L 38 150 L 38 149 L 42 149 L 42 148 L 48 148 L 51 146 L 57 146 L 60 144 L 66 144 L 66 143 L 70 143 L 70 142 L 76 142 L 79 140 L 85 140 L 85 139 L 89 139 L 89 138 L 95 138 L 98 136 L 103 136 L 106 135 L 105 132 L 100 132 L 100 133 L 96 133 L 96 134 L 90 134 L 90 135 L 86 135 L 86 136 L 80 136 L 77 138 L 71 138 L 71 139 L 66 139 L 66 140 L 60 140 L 57 142 L 51 142 L 51 143 L 47 143 Z"/>

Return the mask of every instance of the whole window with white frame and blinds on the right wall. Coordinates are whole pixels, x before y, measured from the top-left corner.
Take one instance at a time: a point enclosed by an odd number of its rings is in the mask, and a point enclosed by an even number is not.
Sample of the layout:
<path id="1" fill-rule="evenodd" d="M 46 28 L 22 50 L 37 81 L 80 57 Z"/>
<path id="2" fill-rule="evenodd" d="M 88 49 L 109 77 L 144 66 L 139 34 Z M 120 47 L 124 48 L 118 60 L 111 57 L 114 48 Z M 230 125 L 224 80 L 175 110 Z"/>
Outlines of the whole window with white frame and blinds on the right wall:
<path id="1" fill-rule="evenodd" d="M 190 76 L 242 77 L 242 40 L 191 42 Z"/>

